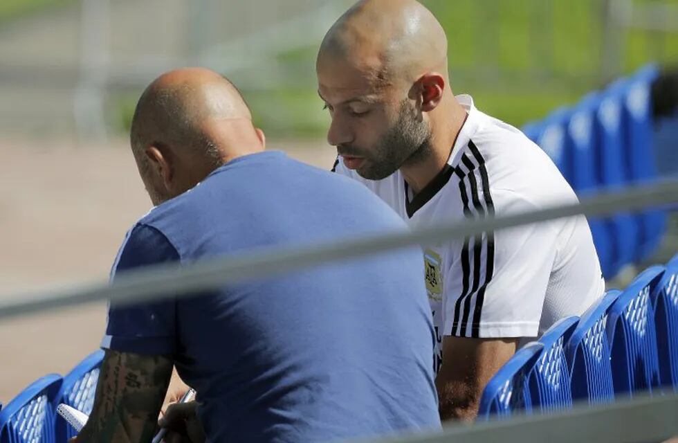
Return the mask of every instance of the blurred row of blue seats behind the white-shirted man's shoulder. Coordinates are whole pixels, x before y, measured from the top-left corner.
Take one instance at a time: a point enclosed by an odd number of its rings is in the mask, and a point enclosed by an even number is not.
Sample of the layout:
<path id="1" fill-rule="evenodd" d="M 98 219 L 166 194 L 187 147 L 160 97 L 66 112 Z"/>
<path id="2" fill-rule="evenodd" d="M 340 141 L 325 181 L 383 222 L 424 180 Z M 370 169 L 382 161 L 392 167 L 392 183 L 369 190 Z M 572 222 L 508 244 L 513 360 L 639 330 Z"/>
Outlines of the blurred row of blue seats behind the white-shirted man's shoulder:
<path id="1" fill-rule="evenodd" d="M 654 181 L 651 88 L 658 75 L 656 67 L 646 66 L 523 132 L 549 154 L 577 195 Z M 624 266 L 650 258 L 666 230 L 666 212 L 618 213 L 589 224 L 603 274 L 614 278 Z"/>

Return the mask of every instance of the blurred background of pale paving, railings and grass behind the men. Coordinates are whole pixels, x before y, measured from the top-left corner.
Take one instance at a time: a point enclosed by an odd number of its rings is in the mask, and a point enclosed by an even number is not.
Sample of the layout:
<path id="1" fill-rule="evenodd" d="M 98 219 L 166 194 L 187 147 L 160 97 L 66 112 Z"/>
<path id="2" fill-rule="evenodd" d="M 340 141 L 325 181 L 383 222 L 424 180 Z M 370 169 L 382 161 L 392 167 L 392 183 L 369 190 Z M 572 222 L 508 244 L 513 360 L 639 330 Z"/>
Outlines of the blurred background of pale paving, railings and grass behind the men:
<path id="1" fill-rule="evenodd" d="M 150 207 L 126 137 L 138 96 L 163 71 L 228 75 L 269 148 L 330 168 L 315 53 L 351 3 L 0 0 L 0 293 L 106 277 L 125 230 Z M 517 127 L 648 62 L 678 66 L 678 0 L 422 3 L 448 33 L 455 93 Z M 666 134 L 678 131 L 662 134 L 657 163 L 668 176 L 678 153 Z M 653 259 L 678 251 L 676 231 L 671 219 Z M 102 305 L 0 323 L 9 362 L 0 401 L 67 372 L 104 325 Z"/>

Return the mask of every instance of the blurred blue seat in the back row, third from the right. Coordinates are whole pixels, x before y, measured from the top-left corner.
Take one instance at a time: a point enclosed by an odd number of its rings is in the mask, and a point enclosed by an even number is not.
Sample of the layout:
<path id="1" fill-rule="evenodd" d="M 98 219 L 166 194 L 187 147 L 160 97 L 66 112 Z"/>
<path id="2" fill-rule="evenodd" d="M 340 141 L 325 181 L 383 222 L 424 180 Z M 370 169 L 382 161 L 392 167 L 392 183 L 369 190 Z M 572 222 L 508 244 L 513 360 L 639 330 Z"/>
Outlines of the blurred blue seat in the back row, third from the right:
<path id="1" fill-rule="evenodd" d="M 596 155 L 596 111 L 600 105 L 598 94 L 591 93 L 574 108 L 567 125 L 567 152 L 572 163 L 570 183 L 577 195 L 590 195 L 601 186 L 598 177 L 598 160 Z M 598 259 L 601 261 L 605 278 L 613 278 L 619 272 L 621 263 L 614 260 L 612 254 L 612 228 L 604 219 L 589 218 L 589 226 L 593 235 Z"/>

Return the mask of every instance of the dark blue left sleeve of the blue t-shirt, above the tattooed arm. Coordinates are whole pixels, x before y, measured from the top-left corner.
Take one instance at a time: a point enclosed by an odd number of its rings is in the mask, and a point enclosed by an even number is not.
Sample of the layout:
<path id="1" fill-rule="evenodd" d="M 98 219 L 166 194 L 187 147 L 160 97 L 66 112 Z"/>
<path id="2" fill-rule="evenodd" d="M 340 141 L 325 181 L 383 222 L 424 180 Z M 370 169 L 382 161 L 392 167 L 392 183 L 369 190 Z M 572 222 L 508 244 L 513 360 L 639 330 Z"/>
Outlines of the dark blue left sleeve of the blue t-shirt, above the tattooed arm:
<path id="1" fill-rule="evenodd" d="M 161 231 L 138 224 L 120 247 L 111 269 L 111 281 L 125 271 L 165 262 L 177 262 L 176 248 Z M 135 354 L 172 354 L 175 349 L 175 300 L 110 306 L 104 349 Z"/>

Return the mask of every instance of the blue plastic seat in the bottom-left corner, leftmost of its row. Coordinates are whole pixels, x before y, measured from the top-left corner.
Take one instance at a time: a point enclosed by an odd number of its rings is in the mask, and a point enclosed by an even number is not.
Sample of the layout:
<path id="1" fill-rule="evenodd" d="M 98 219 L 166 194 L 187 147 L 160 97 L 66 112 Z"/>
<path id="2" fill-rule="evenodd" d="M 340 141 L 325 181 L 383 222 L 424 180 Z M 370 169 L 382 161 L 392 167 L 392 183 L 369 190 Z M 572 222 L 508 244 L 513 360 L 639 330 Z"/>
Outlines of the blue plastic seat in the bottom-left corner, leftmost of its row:
<path id="1" fill-rule="evenodd" d="M 0 442 L 54 443 L 55 400 L 62 377 L 37 379 L 0 410 Z"/>

